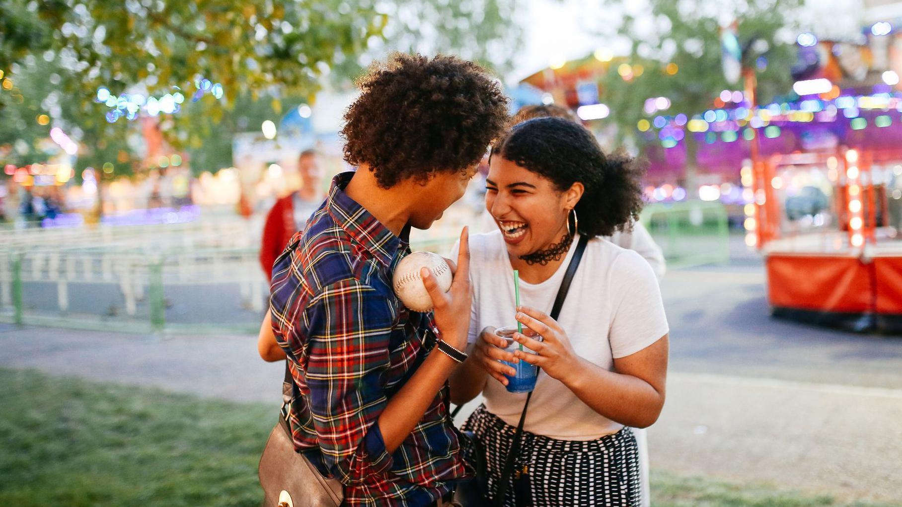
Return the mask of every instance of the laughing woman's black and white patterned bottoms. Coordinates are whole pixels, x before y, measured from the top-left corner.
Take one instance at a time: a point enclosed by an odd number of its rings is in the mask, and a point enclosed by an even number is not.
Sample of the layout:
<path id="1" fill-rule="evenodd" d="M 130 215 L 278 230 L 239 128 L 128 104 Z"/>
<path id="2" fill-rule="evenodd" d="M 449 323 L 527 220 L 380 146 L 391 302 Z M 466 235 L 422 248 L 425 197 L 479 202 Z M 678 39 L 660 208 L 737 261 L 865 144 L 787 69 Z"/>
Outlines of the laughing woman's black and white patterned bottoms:
<path id="1" fill-rule="evenodd" d="M 480 406 L 464 424 L 485 448 L 488 488 L 498 491 L 516 428 Z M 528 466 L 529 492 L 508 486 L 504 507 L 639 507 L 636 438 L 629 428 L 595 440 L 557 440 L 523 432 L 515 470 Z M 516 489 L 520 489 L 515 493 Z M 524 498 L 528 497 L 528 498 Z"/>

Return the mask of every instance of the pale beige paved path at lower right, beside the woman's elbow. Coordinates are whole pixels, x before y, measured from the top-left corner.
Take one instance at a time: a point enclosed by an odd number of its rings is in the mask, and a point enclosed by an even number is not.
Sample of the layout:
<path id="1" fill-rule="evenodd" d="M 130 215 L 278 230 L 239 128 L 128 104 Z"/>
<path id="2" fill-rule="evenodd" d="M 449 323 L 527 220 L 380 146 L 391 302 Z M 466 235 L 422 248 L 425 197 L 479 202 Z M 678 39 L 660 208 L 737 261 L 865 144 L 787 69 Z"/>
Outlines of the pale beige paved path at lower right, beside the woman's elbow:
<path id="1" fill-rule="evenodd" d="M 902 390 L 672 373 L 653 468 L 902 502 Z M 652 494 L 654 494 L 652 492 Z"/>

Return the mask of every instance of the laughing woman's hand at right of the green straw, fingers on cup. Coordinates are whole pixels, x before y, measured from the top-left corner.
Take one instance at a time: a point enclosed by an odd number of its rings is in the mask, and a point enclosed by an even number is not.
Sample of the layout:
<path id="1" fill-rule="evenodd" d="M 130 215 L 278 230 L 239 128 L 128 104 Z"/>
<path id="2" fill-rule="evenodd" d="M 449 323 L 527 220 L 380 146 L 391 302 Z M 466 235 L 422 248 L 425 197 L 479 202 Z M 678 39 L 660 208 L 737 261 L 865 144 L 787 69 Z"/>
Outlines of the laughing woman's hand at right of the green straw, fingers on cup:
<path id="1" fill-rule="evenodd" d="M 564 329 L 554 318 L 537 309 L 524 306 L 517 309 L 517 320 L 542 336 L 542 341 L 534 340 L 522 333 L 514 333 L 514 340 L 538 354 L 517 350 L 514 351 L 514 357 L 535 364 L 543 372 L 548 373 L 548 376 L 568 384 L 571 378 L 579 375 L 583 360 L 574 352 Z"/>

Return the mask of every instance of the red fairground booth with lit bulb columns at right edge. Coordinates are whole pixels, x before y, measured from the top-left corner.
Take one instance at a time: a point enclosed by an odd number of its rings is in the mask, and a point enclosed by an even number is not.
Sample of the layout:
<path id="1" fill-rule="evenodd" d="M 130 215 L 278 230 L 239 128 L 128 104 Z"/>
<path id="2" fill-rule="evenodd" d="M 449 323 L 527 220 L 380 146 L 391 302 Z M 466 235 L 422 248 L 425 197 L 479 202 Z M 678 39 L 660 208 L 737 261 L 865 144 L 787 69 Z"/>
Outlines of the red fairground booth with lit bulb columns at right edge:
<path id="1" fill-rule="evenodd" d="M 765 256 L 773 314 L 902 332 L 902 237 L 888 198 L 902 152 L 772 155 L 752 172 L 746 226 Z"/>

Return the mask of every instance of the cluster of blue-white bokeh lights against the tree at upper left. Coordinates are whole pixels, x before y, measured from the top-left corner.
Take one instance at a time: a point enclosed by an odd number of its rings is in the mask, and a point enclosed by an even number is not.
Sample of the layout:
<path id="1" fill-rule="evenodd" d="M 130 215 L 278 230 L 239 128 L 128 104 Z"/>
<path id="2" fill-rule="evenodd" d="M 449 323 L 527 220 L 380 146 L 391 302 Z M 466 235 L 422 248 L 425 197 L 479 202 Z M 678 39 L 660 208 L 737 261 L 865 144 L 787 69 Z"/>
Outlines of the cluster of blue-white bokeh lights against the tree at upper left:
<path id="1" fill-rule="evenodd" d="M 214 83 L 207 78 L 196 78 L 194 87 L 196 91 L 191 96 L 191 102 L 197 102 L 207 93 L 216 98 L 216 100 L 225 95 L 221 84 Z M 110 92 L 109 88 L 100 87 L 97 88 L 97 95 L 94 100 L 110 108 L 105 115 L 107 122 L 115 124 L 122 117 L 131 122 L 138 118 L 142 110 L 148 116 L 176 115 L 181 112 L 181 106 L 185 102 L 185 95 L 179 87 L 172 87 L 171 89 L 170 93 L 158 98 L 144 97 L 138 93 L 122 93 L 119 96 L 115 96 Z"/>

